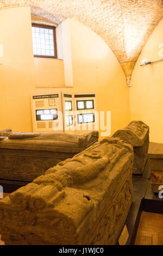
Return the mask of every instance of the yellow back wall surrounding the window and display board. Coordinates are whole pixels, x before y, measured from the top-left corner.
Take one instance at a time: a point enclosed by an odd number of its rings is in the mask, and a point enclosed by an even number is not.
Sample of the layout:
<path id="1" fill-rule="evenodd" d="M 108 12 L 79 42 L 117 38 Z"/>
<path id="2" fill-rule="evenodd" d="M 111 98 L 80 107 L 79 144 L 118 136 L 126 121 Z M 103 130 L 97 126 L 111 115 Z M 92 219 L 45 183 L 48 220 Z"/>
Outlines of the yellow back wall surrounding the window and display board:
<path id="1" fill-rule="evenodd" d="M 32 131 L 30 94 L 52 92 L 52 88 L 36 88 L 39 86 L 64 86 L 66 63 L 72 64 L 69 80 L 74 87 L 53 88 L 54 92 L 95 92 L 97 110 L 111 111 L 111 133 L 129 123 L 126 77 L 114 53 L 96 33 L 69 19 L 62 26 L 66 61 L 34 58 L 30 8 L 7 8 L 0 12 L 0 44 L 4 46 L 4 56 L 0 57 L 0 130 L 10 127 L 13 131 Z M 69 34 L 64 33 L 67 26 Z M 66 47 L 71 50 L 68 54 Z"/>

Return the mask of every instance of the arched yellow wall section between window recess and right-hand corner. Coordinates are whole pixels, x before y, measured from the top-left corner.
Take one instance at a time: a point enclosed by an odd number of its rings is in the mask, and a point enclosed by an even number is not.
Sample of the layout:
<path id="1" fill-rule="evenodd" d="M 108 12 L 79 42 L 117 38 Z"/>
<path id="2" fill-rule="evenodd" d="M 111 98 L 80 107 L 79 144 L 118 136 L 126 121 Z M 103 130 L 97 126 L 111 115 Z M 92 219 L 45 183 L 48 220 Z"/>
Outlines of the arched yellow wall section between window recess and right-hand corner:
<path id="1" fill-rule="evenodd" d="M 100 36 L 73 19 L 70 28 L 74 91 L 96 93 L 97 110 L 111 111 L 112 134 L 130 121 L 126 77 Z"/>

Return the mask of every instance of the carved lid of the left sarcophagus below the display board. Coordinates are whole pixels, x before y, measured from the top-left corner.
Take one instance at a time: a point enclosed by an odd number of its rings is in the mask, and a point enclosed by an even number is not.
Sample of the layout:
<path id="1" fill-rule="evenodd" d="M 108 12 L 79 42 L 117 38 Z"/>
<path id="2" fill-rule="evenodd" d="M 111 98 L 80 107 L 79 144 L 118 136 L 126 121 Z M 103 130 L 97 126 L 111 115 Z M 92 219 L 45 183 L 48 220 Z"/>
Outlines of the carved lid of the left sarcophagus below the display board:
<path id="1" fill-rule="evenodd" d="M 98 141 L 98 131 L 85 135 L 68 135 L 66 133 L 22 133 L 0 131 L 0 148 L 26 149 L 78 153 Z M 4 138 L 4 136 L 7 136 Z"/>

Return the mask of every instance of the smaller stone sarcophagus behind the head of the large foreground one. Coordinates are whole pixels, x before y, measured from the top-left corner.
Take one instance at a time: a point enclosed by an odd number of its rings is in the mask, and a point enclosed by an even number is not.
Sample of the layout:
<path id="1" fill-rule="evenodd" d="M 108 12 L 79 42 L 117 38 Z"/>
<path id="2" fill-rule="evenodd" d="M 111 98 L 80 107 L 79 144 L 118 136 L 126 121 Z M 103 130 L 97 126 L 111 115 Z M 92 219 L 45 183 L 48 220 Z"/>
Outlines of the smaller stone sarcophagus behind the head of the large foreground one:
<path id="1" fill-rule="evenodd" d="M 133 174 L 142 174 L 148 159 L 149 127 L 142 121 L 131 123 L 112 135 L 129 143 L 134 148 Z"/>

